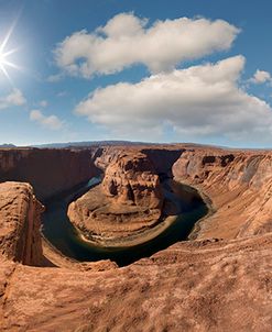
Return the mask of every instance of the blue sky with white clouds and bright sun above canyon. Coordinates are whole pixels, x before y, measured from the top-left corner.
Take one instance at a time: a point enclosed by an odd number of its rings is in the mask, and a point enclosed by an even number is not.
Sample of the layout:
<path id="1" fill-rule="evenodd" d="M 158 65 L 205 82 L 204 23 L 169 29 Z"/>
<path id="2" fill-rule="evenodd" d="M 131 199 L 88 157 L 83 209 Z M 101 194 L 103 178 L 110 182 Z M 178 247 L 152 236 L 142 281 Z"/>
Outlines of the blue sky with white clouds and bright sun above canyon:
<path id="1" fill-rule="evenodd" d="M 272 147 L 271 0 L 0 0 L 0 144 Z"/>

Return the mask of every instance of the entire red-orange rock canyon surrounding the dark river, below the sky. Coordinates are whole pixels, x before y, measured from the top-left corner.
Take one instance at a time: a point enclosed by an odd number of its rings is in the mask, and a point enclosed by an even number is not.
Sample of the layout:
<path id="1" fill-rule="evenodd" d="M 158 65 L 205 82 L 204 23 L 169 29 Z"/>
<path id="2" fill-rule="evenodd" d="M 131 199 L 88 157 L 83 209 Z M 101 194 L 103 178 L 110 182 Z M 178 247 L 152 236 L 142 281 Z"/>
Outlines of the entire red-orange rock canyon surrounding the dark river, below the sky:
<path id="1" fill-rule="evenodd" d="M 0 151 L 1 330 L 271 331 L 271 170 L 270 151 L 195 144 Z M 165 178 L 209 213 L 189 241 L 122 268 L 63 257 L 41 237 L 46 201 L 101 174 L 69 206 L 79 231 L 152 228 Z"/>

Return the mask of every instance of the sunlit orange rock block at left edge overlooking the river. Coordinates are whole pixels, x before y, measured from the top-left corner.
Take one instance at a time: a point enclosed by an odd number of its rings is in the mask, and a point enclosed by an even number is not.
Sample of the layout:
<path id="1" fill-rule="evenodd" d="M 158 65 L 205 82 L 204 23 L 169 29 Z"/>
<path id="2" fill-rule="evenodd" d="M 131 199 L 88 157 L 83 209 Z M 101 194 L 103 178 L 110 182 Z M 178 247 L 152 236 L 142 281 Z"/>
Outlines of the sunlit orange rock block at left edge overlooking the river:
<path id="1" fill-rule="evenodd" d="M 41 265 L 43 206 L 29 184 L 0 184 L 0 252 L 8 259 Z"/>

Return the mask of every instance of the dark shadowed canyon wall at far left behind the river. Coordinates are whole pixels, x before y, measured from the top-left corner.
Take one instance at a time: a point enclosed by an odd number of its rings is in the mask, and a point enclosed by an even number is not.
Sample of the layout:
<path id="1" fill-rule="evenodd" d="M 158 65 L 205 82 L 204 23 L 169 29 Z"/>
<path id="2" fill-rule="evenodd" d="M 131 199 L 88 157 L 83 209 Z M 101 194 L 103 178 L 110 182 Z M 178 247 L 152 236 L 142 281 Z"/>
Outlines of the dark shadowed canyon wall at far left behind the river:
<path id="1" fill-rule="evenodd" d="M 29 182 L 40 200 L 68 190 L 99 173 L 91 150 L 0 150 L 0 181 Z"/>

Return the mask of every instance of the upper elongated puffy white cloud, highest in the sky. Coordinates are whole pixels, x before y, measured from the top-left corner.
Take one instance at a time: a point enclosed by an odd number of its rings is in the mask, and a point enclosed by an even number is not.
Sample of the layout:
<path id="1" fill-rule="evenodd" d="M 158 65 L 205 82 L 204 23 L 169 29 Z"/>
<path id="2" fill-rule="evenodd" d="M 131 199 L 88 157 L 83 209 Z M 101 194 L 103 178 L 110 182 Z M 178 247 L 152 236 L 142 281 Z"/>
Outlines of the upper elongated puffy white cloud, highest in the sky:
<path id="1" fill-rule="evenodd" d="M 228 49 L 238 33 L 236 26 L 222 20 L 181 18 L 148 26 L 146 19 L 121 13 L 93 33 L 83 30 L 67 36 L 57 45 L 55 57 L 61 68 L 86 78 L 139 63 L 155 74 Z"/>

